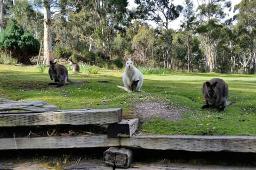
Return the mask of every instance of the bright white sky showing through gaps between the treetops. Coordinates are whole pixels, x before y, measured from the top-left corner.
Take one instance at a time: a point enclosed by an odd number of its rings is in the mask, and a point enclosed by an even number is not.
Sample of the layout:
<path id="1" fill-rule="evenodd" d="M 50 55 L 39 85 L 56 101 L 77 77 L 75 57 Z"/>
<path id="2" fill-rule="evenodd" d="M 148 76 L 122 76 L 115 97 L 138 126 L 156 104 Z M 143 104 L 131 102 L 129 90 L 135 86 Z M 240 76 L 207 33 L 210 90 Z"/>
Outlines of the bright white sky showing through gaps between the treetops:
<path id="1" fill-rule="evenodd" d="M 231 9 L 230 12 L 225 11 L 225 12 L 228 13 L 228 15 L 229 15 L 227 18 L 231 18 L 231 16 L 234 15 L 234 13 L 233 13 L 234 6 L 235 6 L 236 4 L 239 4 L 239 3 L 241 2 L 241 0 L 230 0 L 230 1 L 231 1 L 231 4 L 232 4 L 232 9 Z M 137 4 L 134 3 L 134 0 L 128 0 L 128 2 L 129 2 L 129 4 L 128 4 L 128 8 L 129 8 L 129 9 L 132 9 L 132 8 L 134 8 L 134 7 L 137 6 Z M 199 1 L 199 2 L 200 2 L 200 1 Z M 197 8 L 197 6 L 198 6 L 197 0 L 193 0 L 193 3 L 194 3 L 194 6 L 195 6 L 195 10 L 196 10 L 196 8 Z M 181 6 L 184 6 L 184 5 L 185 5 L 185 0 L 173 0 L 173 4 L 174 4 L 174 5 L 181 5 Z M 179 28 L 180 28 L 179 25 L 181 24 L 182 17 L 183 17 L 183 16 L 179 16 L 179 18 L 178 18 L 177 20 L 172 21 L 172 22 L 170 23 L 170 25 L 169 25 L 169 28 L 172 28 L 172 29 L 174 29 L 174 30 L 179 29 Z M 155 27 L 155 23 L 153 23 L 153 22 L 148 22 L 148 23 L 149 23 L 150 25 L 152 25 L 153 27 Z"/>

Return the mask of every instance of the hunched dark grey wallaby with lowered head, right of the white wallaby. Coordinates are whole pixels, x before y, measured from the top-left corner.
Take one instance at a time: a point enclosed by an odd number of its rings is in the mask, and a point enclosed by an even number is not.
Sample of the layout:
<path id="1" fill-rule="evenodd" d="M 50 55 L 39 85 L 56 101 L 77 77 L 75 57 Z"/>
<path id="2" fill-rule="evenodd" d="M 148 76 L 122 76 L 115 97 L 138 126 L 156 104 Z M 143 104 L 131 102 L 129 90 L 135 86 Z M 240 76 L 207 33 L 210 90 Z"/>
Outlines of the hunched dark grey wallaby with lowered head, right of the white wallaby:
<path id="1" fill-rule="evenodd" d="M 202 92 L 206 105 L 202 108 L 217 108 L 223 111 L 233 101 L 228 99 L 228 84 L 219 78 L 211 79 L 203 83 Z"/>

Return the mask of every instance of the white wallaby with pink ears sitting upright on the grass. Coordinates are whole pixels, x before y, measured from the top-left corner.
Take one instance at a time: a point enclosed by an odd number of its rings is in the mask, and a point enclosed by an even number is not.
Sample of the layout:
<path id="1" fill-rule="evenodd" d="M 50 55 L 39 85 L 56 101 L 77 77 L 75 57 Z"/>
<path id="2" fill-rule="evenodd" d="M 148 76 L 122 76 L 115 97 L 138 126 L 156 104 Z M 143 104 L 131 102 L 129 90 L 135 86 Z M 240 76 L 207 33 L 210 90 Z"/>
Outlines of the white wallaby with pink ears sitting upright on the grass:
<path id="1" fill-rule="evenodd" d="M 133 65 L 134 57 L 128 58 L 124 57 L 125 63 L 125 71 L 123 73 L 123 82 L 124 87 L 117 86 L 120 89 L 123 89 L 127 92 L 144 92 L 140 90 L 143 84 L 143 75 L 142 73 Z"/>

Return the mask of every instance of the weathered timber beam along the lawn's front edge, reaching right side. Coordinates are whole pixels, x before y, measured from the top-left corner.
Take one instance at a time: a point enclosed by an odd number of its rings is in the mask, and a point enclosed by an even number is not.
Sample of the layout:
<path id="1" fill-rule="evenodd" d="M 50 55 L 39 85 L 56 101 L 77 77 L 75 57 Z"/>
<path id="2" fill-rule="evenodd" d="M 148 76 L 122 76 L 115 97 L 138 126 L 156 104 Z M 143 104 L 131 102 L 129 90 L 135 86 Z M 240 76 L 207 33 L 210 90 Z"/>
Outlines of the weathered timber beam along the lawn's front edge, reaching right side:
<path id="1" fill-rule="evenodd" d="M 158 150 L 256 152 L 256 136 L 157 135 L 121 138 L 120 143 Z"/>

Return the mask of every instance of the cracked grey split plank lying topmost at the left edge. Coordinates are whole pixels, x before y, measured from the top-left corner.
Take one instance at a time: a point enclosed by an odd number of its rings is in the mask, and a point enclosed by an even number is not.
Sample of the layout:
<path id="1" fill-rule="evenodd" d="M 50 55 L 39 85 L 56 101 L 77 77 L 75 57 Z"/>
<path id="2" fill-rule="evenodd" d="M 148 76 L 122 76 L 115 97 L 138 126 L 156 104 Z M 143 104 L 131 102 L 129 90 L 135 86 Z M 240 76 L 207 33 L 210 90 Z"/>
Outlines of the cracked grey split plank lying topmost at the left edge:
<path id="1" fill-rule="evenodd" d="M 57 106 L 49 105 L 44 101 L 13 101 L 0 98 L 0 111 L 30 111 L 30 112 L 49 112 L 58 110 Z"/>

